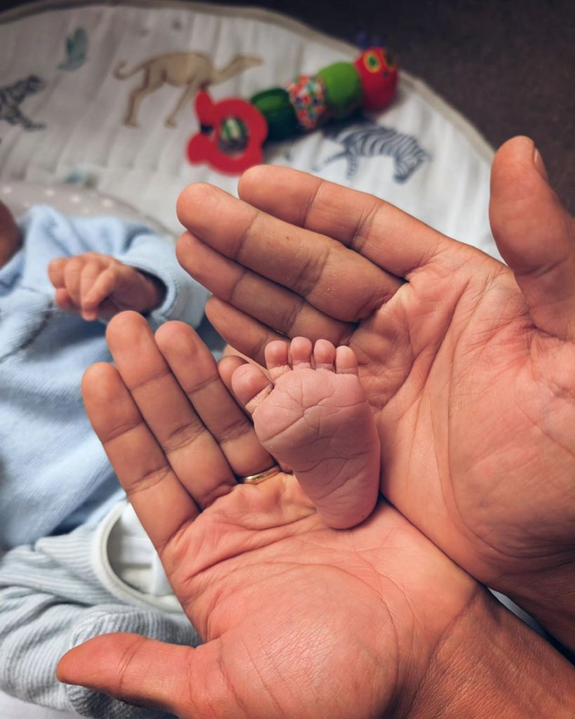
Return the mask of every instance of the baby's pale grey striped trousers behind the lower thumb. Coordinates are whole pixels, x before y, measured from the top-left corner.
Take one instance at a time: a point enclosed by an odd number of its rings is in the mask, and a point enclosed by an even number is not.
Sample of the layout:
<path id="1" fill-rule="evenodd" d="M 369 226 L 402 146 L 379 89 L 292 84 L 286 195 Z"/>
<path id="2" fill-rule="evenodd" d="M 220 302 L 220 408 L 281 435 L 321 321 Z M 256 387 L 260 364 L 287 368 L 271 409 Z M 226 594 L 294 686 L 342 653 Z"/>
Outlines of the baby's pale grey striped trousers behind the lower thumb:
<path id="1" fill-rule="evenodd" d="M 27 702 L 102 719 L 165 719 L 84 687 L 60 684 L 57 661 L 93 636 L 136 632 L 196 646 L 184 615 L 126 604 L 93 569 L 95 528 L 19 546 L 0 558 L 0 689 Z"/>

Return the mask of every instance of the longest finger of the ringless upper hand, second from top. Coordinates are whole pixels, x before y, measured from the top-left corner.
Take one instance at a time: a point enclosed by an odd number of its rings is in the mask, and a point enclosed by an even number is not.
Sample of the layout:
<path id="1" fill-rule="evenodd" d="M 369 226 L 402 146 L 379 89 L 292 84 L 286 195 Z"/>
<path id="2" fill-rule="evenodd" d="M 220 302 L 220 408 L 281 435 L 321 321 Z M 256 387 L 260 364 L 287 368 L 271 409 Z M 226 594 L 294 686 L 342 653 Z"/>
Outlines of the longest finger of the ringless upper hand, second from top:
<path id="1" fill-rule="evenodd" d="M 369 316 L 402 283 L 340 242 L 272 217 L 212 186 L 185 188 L 178 198 L 178 216 L 203 244 L 336 319 Z M 178 260 L 186 270 L 193 260 L 188 242 L 186 234 L 178 242 Z"/>

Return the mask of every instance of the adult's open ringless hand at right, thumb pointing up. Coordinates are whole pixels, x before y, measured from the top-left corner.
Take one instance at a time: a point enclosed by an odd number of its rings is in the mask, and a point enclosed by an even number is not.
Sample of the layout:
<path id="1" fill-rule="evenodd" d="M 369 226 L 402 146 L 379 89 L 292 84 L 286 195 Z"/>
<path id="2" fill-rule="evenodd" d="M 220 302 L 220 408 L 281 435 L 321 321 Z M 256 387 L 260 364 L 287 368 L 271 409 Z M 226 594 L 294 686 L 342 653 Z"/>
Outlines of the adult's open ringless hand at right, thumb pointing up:
<path id="1" fill-rule="evenodd" d="M 212 323 L 260 362 L 278 332 L 349 343 L 383 493 L 574 648 L 574 224 L 533 143 L 493 163 L 509 267 L 295 170 L 249 170 L 239 195 L 191 185 L 179 200 L 178 259 L 216 296 Z"/>

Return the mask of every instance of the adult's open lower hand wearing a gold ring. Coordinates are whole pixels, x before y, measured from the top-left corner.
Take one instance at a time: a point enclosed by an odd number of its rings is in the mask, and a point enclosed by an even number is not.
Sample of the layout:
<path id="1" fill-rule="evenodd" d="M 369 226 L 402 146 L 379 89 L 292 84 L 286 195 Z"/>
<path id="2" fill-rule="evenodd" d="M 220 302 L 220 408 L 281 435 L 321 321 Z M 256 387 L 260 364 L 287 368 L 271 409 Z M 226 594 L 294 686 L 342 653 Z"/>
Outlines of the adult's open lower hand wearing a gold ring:
<path id="1" fill-rule="evenodd" d="M 566 662 L 390 505 L 336 531 L 291 475 L 236 485 L 270 456 L 193 330 L 156 337 L 140 316 L 116 317 L 117 369 L 91 367 L 83 393 L 206 644 L 94 638 L 60 661 L 61 681 L 190 718 L 448 718 L 468 702 L 469 717 L 501 702 L 510 716 L 568 715 L 553 696 L 573 678 Z M 226 360 L 226 379 L 241 361 Z M 533 690 L 514 688 L 517 662 Z"/>

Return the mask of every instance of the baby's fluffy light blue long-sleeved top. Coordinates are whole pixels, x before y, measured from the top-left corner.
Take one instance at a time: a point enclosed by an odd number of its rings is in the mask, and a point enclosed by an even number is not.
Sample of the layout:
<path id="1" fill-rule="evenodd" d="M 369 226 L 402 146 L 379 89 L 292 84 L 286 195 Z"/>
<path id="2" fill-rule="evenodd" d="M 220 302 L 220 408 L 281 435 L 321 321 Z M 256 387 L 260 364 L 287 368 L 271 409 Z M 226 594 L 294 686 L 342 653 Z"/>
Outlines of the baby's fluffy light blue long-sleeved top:
<path id="1" fill-rule="evenodd" d="M 19 224 L 24 245 L 0 268 L 0 549 L 94 523 L 121 498 L 80 396 L 86 367 L 111 360 L 106 327 L 55 306 L 50 260 L 93 251 L 155 275 L 167 291 L 152 329 L 197 326 L 207 297 L 173 244 L 145 226 L 47 206 Z"/>

